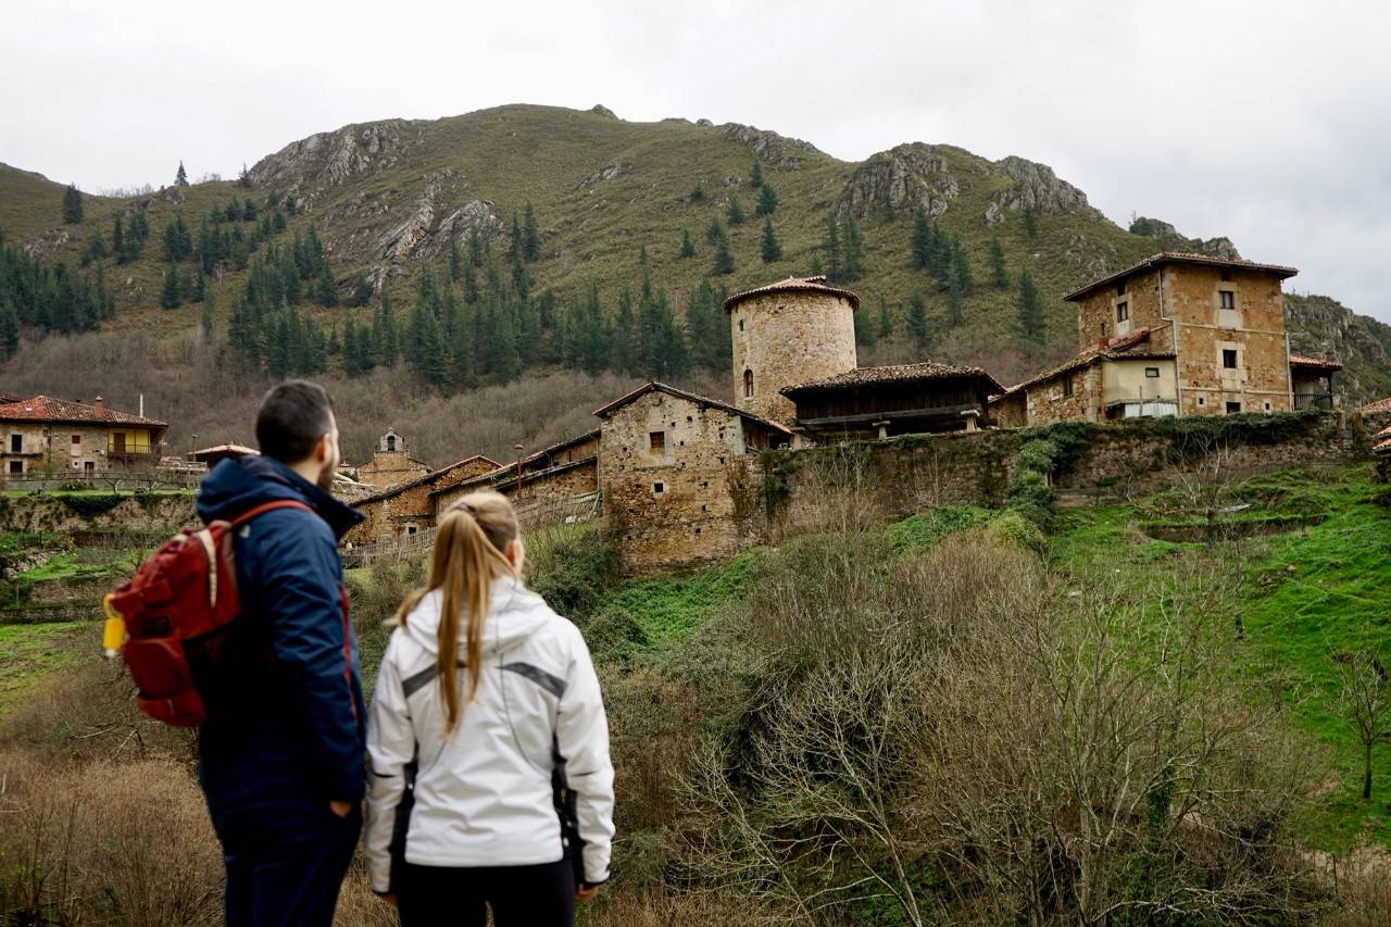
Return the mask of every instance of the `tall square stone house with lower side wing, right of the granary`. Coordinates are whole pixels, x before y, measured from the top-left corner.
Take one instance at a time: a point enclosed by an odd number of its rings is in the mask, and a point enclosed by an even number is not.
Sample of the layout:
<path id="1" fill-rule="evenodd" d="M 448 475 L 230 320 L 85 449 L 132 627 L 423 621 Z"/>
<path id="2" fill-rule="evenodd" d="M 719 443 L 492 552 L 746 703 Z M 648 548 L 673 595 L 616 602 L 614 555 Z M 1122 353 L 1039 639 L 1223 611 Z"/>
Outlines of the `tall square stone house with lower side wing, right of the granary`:
<path id="1" fill-rule="evenodd" d="M 990 402 L 1003 426 L 1333 408 L 1335 360 L 1289 355 L 1294 267 L 1161 252 L 1063 298 L 1079 354 Z"/>

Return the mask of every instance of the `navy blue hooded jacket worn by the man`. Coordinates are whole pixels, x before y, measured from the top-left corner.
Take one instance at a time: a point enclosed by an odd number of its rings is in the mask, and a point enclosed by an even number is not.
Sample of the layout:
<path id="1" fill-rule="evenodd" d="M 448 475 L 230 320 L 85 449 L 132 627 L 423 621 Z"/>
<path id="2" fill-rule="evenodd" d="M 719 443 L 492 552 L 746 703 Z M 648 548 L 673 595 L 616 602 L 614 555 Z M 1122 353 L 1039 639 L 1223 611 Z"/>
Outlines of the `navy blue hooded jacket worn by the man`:
<path id="1" fill-rule="evenodd" d="M 231 521 L 285 498 L 314 514 L 270 511 L 235 534 L 242 614 L 199 731 L 199 778 L 214 820 L 363 795 L 366 707 L 338 561 L 338 540 L 362 515 L 266 457 L 218 464 L 198 514 Z"/>

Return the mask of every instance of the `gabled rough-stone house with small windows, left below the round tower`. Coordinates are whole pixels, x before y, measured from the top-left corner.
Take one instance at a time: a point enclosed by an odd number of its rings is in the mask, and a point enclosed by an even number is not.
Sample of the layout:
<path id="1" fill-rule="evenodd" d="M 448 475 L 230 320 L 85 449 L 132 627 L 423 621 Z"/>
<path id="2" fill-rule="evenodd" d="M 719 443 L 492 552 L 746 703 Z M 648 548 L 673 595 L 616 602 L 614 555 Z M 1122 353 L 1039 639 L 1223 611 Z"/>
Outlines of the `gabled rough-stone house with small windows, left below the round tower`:
<path id="1" fill-rule="evenodd" d="M 730 557 L 757 536 L 764 509 L 754 455 L 789 445 L 791 429 L 664 383 L 594 415 L 604 512 L 626 571 Z"/>

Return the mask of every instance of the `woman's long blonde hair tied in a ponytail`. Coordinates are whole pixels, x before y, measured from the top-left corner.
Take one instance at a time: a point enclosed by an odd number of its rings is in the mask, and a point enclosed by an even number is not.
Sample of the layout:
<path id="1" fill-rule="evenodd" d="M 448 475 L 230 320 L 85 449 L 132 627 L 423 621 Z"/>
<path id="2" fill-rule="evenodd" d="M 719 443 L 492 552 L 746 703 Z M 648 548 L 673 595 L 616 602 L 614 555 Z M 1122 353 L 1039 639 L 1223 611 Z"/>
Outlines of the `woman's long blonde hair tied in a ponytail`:
<path id="1" fill-rule="evenodd" d="M 517 516 L 506 497 L 487 491 L 465 496 L 440 519 L 428 583 L 408 596 L 396 612 L 396 624 L 405 628 L 420 600 L 435 589 L 442 590 L 437 674 L 445 702 L 445 732 L 453 731 L 459 718 L 459 619 L 467 608 L 469 696 L 465 702 L 472 702 L 483 676 L 483 632 L 492 580 L 517 576 L 506 558 L 508 546 L 517 534 Z"/>

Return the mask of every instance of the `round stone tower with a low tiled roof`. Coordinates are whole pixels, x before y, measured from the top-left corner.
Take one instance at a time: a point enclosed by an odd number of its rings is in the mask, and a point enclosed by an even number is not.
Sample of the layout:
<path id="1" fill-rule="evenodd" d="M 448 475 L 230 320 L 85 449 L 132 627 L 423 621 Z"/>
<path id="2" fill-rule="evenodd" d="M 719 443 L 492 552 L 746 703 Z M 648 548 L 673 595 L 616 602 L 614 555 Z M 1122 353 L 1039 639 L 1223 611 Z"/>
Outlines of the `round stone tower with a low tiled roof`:
<path id="1" fill-rule="evenodd" d="M 734 342 L 734 404 L 765 419 L 791 419 L 778 391 L 854 370 L 860 296 L 825 277 L 789 277 L 725 301 Z"/>

